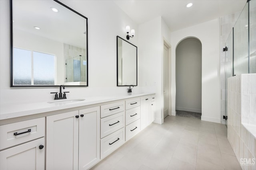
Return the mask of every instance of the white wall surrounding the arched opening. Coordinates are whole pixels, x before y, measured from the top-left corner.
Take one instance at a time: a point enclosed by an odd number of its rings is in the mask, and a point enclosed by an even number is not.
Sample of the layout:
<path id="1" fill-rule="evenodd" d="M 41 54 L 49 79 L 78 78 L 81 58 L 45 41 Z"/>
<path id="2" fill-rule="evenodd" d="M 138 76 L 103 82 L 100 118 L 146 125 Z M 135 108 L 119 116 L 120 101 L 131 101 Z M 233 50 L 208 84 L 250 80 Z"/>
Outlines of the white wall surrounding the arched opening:
<path id="1" fill-rule="evenodd" d="M 176 46 L 187 37 L 202 43 L 202 120 L 220 123 L 220 21 L 207 21 L 171 33 L 172 115 L 176 115 Z"/>

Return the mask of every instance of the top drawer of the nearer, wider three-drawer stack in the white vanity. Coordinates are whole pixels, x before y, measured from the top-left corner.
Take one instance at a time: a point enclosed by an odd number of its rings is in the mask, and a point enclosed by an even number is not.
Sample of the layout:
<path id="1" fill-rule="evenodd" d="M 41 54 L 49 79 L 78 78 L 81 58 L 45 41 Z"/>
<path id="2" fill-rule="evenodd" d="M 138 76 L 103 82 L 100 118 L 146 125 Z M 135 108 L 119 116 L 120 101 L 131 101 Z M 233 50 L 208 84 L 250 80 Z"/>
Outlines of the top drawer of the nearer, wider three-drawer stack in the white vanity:
<path id="1" fill-rule="evenodd" d="M 124 102 L 117 102 L 100 106 L 100 118 L 124 111 Z"/>

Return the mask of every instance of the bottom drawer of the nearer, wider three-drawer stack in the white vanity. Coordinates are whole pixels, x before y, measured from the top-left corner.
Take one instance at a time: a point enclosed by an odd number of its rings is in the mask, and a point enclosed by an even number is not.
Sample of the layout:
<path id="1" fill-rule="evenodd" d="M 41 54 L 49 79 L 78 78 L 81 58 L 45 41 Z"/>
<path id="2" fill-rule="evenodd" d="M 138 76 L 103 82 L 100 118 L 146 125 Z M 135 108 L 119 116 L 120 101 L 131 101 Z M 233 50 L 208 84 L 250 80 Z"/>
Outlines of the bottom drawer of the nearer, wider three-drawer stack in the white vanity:
<path id="1" fill-rule="evenodd" d="M 104 158 L 124 143 L 124 127 L 100 139 L 100 159 Z"/>

